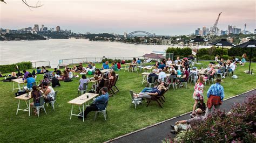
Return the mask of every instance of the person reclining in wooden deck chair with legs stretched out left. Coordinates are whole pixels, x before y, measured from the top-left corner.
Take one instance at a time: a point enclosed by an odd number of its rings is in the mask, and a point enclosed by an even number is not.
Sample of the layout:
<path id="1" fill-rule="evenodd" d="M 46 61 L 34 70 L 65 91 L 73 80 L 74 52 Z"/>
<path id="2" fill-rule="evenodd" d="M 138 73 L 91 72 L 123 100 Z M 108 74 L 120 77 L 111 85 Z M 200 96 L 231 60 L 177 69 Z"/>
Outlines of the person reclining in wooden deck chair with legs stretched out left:
<path id="1" fill-rule="evenodd" d="M 151 98 L 152 96 L 159 96 L 161 92 L 166 91 L 167 89 L 165 88 L 164 85 L 161 85 L 157 89 L 153 89 L 150 92 L 140 92 L 139 94 L 133 93 L 134 98 Z"/>

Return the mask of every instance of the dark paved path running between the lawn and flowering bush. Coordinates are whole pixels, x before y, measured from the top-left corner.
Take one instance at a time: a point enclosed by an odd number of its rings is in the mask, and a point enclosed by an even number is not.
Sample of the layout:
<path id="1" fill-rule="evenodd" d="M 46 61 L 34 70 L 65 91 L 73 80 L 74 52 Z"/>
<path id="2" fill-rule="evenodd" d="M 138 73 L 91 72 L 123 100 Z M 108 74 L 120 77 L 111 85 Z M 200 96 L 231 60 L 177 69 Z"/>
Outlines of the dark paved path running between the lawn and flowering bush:
<path id="1" fill-rule="evenodd" d="M 245 101 L 247 96 L 250 96 L 253 94 L 256 95 L 256 89 L 245 92 L 244 94 L 226 99 L 223 102 L 223 105 L 220 106 L 220 109 L 229 111 L 231 109 L 231 106 L 234 103 L 242 103 Z M 122 135 L 120 137 L 109 140 L 107 142 L 161 142 L 161 140 L 164 140 L 165 138 L 167 138 L 168 135 L 170 135 L 170 137 L 173 138 L 174 135 L 170 133 L 170 130 L 171 130 L 170 125 L 171 124 L 174 125 L 174 123 L 178 120 L 189 119 L 190 113 L 191 112 L 181 115 L 179 117 L 174 117 L 169 120 L 162 121 L 155 125 L 142 128 L 138 131 L 134 131 L 129 134 Z"/>

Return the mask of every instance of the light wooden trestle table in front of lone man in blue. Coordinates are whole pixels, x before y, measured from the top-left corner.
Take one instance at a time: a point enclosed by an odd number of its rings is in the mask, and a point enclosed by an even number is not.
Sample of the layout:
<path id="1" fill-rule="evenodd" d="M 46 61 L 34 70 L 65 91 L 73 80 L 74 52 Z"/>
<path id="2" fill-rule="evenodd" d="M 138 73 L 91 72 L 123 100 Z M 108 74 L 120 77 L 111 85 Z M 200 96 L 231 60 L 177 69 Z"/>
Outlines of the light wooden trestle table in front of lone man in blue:
<path id="1" fill-rule="evenodd" d="M 87 95 L 89 96 L 89 98 L 87 98 Z M 83 113 L 84 112 L 84 104 L 85 104 L 85 106 L 89 106 L 89 104 L 86 105 L 86 102 L 89 102 L 91 99 L 95 98 L 96 96 L 98 96 L 98 94 L 85 93 L 85 94 L 69 101 L 68 103 L 72 104 L 70 119 L 72 118 L 72 116 L 79 116 L 79 117 L 83 117 L 83 121 L 84 121 L 84 113 Z M 78 105 L 79 106 L 80 113 L 73 114 L 73 105 Z M 82 111 L 81 111 L 81 108 L 80 108 L 81 105 L 83 106 Z M 79 115 L 79 114 L 83 114 L 83 115 Z"/>

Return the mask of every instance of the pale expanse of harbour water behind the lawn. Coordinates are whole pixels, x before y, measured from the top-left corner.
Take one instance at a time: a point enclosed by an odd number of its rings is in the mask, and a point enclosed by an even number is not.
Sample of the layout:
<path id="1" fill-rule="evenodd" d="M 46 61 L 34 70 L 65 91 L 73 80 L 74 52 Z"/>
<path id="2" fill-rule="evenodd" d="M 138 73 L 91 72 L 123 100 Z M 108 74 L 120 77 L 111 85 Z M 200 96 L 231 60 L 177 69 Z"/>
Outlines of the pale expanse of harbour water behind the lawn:
<path id="1" fill-rule="evenodd" d="M 0 41 L 0 65 L 21 61 L 49 60 L 51 65 L 60 59 L 84 57 L 133 57 L 152 51 L 164 51 L 168 45 L 134 45 L 120 42 L 98 42 L 84 39 L 50 39 L 39 41 Z"/>

